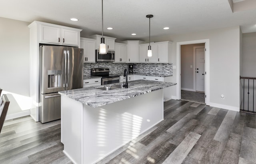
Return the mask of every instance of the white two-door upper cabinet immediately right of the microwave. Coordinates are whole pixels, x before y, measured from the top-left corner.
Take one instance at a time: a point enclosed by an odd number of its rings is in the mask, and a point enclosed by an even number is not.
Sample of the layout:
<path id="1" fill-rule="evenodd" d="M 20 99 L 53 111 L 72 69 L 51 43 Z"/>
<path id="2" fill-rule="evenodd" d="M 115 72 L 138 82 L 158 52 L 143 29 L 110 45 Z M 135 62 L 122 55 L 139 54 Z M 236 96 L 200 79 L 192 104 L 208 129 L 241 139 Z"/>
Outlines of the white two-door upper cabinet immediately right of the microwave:
<path id="1" fill-rule="evenodd" d="M 126 62 L 126 44 L 115 43 L 115 62 Z"/>

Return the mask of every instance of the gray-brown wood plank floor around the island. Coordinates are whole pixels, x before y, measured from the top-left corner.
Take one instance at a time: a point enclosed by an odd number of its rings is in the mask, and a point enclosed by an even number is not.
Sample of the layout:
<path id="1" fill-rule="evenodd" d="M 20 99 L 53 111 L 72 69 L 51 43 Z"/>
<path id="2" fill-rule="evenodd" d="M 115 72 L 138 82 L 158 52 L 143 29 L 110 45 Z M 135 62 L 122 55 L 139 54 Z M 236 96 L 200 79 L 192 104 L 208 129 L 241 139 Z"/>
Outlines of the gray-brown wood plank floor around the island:
<path id="1" fill-rule="evenodd" d="M 72 163 L 62 150 L 60 120 L 8 120 L 0 134 L 0 164 Z M 162 122 L 98 162 L 104 163 L 256 163 L 256 116 L 170 100 Z"/>

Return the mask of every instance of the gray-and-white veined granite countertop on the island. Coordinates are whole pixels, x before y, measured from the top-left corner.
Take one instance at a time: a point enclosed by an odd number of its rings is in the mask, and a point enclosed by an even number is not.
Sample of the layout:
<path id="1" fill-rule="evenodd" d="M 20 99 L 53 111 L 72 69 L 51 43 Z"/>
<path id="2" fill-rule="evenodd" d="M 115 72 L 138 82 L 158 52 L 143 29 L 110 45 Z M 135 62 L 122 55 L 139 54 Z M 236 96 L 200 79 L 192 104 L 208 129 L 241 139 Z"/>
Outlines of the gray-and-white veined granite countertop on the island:
<path id="1" fill-rule="evenodd" d="M 122 83 L 108 84 L 104 86 L 113 86 L 116 84 Z M 128 83 L 128 88 L 115 90 L 100 90 L 97 88 L 101 88 L 103 86 L 95 86 L 74 90 L 66 90 L 58 93 L 95 108 L 174 85 L 176 85 L 176 83 L 158 82 L 150 80 L 134 80 Z"/>

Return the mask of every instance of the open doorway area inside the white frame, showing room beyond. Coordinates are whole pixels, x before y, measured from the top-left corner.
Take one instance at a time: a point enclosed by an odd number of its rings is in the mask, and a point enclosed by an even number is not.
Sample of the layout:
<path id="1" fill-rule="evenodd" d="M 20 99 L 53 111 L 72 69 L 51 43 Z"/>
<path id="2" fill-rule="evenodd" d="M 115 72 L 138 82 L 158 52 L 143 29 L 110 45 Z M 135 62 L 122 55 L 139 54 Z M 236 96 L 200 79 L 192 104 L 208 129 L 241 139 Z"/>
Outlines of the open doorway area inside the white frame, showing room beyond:
<path id="1" fill-rule="evenodd" d="M 180 46 L 180 83 L 182 100 L 205 103 L 204 52 L 204 43 L 185 44 Z"/>

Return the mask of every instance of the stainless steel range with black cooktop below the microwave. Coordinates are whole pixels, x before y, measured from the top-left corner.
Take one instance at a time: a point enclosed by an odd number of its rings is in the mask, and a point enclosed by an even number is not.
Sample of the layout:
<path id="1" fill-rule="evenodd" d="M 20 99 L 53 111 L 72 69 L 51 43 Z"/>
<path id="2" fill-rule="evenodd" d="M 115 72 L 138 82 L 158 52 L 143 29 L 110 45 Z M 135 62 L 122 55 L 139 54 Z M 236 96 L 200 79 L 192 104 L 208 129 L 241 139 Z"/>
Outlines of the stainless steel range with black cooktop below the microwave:
<path id="1" fill-rule="evenodd" d="M 119 75 L 110 75 L 109 68 L 92 68 L 91 76 L 100 76 L 101 85 L 112 84 L 120 82 Z"/>

